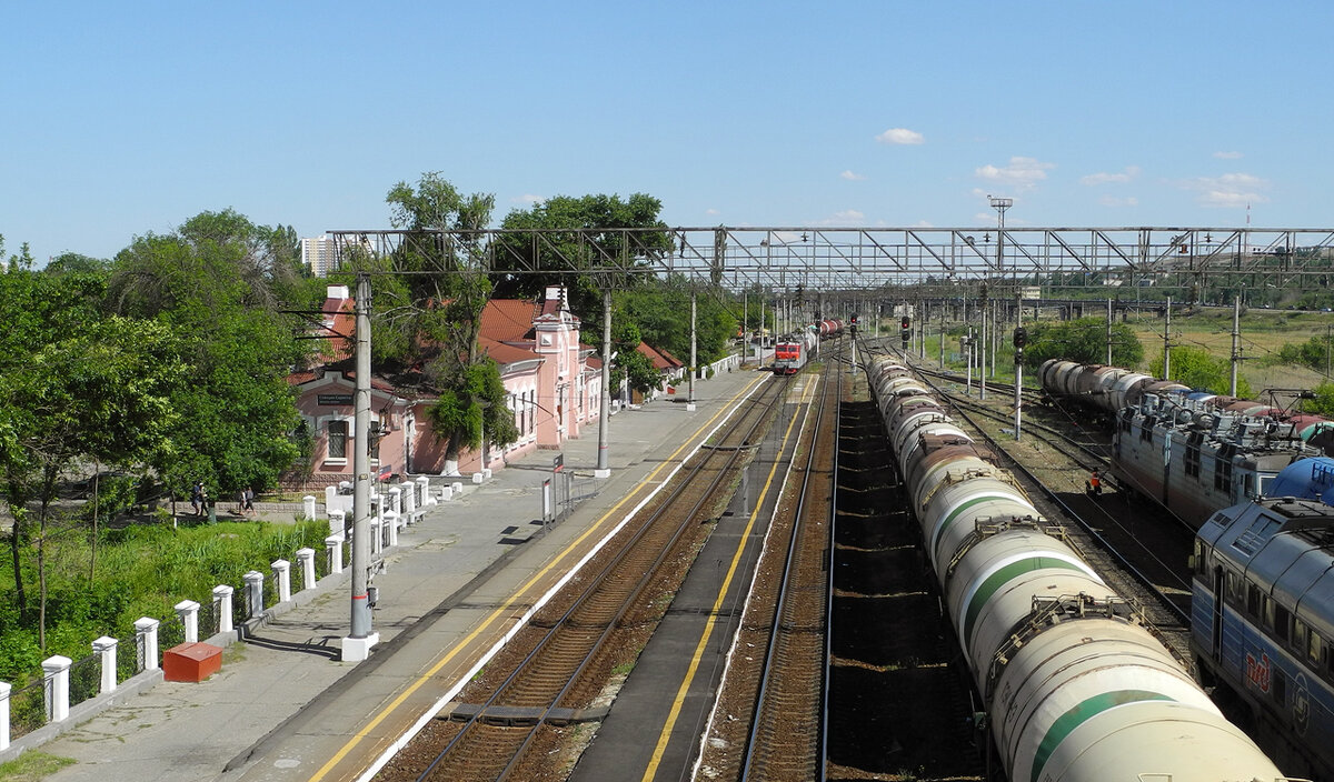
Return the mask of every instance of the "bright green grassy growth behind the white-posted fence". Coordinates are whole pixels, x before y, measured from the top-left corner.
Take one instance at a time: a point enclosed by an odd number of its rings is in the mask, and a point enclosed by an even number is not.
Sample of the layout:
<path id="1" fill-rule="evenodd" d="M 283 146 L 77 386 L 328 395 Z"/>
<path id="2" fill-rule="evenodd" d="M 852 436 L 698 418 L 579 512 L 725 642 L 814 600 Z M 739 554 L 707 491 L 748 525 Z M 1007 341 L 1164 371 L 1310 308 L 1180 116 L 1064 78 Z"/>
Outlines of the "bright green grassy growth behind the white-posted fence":
<path id="1" fill-rule="evenodd" d="M 220 522 L 172 529 L 135 525 L 101 534 L 96 574 L 89 581 L 85 536 L 47 544 L 47 649 L 37 643 L 37 613 L 19 613 L 13 562 L 0 562 L 0 681 L 21 682 L 40 673 L 52 654 L 79 659 L 99 635 L 124 638 L 140 617 L 173 617 L 183 599 L 207 605 L 219 584 L 241 586 L 248 570 L 268 573 L 273 560 L 292 560 L 300 548 L 323 550 L 328 524 Z M 31 561 L 31 558 L 29 558 Z M 25 578 L 29 584 L 35 578 Z M 271 595 L 269 595 L 271 597 Z M 121 654 L 132 654 L 123 651 Z"/>

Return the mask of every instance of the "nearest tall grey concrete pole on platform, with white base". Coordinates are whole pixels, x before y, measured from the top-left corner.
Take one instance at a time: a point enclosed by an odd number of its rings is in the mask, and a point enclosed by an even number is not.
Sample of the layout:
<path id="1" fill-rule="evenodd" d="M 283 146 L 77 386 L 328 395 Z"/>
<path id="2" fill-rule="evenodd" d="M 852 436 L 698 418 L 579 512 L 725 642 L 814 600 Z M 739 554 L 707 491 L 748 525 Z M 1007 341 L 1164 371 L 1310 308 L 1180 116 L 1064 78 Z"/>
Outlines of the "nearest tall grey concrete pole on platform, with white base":
<path id="1" fill-rule="evenodd" d="M 371 277 L 356 276 L 356 385 L 352 390 L 352 631 L 344 662 L 370 657 L 380 634 L 371 630 Z"/>

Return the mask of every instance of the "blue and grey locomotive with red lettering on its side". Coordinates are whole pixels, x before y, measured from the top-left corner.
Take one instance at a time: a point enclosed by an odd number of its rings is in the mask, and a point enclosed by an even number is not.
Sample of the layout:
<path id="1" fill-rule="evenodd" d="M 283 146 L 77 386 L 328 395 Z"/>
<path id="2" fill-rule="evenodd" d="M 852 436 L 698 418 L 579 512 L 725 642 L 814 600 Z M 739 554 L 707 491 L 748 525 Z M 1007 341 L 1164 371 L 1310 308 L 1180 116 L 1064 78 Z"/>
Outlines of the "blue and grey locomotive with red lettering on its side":
<path id="1" fill-rule="evenodd" d="M 1219 510 L 1199 528 L 1191 565 L 1202 675 L 1289 738 L 1293 770 L 1334 779 L 1334 508 L 1281 497 Z"/>

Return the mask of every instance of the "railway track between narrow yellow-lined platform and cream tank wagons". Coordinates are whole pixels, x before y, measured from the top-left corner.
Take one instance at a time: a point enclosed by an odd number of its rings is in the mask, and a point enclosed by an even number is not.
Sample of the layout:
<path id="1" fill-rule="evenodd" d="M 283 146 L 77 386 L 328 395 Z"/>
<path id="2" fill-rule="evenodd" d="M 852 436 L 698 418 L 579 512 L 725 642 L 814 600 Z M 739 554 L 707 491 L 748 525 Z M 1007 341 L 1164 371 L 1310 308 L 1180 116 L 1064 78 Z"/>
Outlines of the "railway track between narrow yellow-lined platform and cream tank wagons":
<path id="1" fill-rule="evenodd" d="M 808 408 L 794 481 L 770 522 L 699 769 L 712 779 L 823 778 L 828 552 L 844 364 Z M 723 717 L 726 715 L 726 717 Z M 748 729 L 747 729 L 748 726 Z"/>

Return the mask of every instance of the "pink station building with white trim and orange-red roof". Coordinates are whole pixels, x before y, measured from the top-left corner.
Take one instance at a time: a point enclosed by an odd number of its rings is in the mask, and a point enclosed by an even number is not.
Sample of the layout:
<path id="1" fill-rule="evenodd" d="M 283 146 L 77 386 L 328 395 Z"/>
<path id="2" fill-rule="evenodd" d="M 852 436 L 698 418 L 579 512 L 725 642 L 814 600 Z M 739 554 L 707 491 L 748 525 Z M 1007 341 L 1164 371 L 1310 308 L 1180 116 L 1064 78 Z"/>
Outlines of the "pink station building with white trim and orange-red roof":
<path id="1" fill-rule="evenodd" d="M 504 448 L 483 444 L 480 452 L 463 452 L 458 464 L 447 464 L 444 440 L 435 436 L 426 417 L 435 400 L 372 377 L 372 470 L 471 474 L 500 468 L 506 458 L 534 449 L 559 449 L 566 440 L 580 437 L 586 426 L 595 426 L 602 361 L 594 348 L 579 344 L 579 318 L 566 306 L 563 293 L 560 288 L 548 288 L 540 304 L 503 298 L 487 302 L 482 310 L 479 349 L 500 365 L 507 404 L 519 429 L 516 442 Z M 321 309 L 328 333 L 354 332 L 354 301 L 346 285 L 329 285 Z M 289 377 L 312 449 L 311 464 L 305 470 L 293 470 L 288 482 L 316 488 L 352 478 L 354 366 L 354 360 L 343 352 L 339 361 Z"/>

